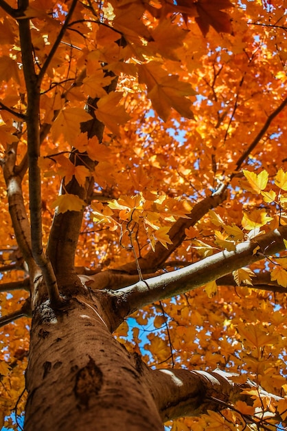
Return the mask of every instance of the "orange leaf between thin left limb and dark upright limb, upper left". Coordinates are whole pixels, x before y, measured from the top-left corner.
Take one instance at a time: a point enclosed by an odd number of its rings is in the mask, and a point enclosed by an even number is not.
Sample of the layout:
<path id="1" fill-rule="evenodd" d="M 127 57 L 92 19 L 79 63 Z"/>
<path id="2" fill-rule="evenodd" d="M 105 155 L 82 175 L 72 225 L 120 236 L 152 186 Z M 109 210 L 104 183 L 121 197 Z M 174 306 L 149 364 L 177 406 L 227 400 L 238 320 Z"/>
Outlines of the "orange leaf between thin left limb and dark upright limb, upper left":
<path id="1" fill-rule="evenodd" d="M 84 109 L 73 107 L 62 109 L 53 125 L 51 126 L 51 134 L 54 140 L 58 140 L 61 135 L 70 144 L 73 145 L 75 136 L 80 134 L 80 123 L 91 120 L 91 115 Z"/>

